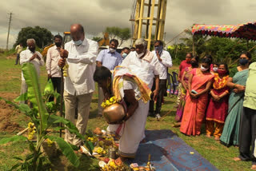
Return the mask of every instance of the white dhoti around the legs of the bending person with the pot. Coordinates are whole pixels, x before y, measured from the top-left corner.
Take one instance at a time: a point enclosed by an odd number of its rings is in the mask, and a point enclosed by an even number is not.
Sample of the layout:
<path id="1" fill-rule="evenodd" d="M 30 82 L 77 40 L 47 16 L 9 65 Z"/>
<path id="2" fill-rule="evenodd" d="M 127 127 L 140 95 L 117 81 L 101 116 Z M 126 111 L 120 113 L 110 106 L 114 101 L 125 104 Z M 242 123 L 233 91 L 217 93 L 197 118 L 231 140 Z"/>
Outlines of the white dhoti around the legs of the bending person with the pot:
<path id="1" fill-rule="evenodd" d="M 138 109 L 122 126 L 118 153 L 122 157 L 135 157 L 140 141 L 145 137 L 146 117 L 149 110 L 149 102 L 146 104 L 138 101 Z M 115 133 L 120 125 L 109 125 L 107 130 Z"/>

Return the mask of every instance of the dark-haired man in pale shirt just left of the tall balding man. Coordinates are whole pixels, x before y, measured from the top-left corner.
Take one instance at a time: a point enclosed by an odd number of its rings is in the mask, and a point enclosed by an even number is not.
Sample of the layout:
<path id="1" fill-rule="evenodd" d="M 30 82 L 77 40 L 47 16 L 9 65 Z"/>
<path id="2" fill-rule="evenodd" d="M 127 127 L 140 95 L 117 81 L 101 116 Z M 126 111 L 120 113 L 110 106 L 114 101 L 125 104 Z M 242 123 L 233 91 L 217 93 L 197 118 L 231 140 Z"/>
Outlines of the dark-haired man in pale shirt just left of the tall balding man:
<path id="1" fill-rule="evenodd" d="M 61 58 L 59 54 L 62 46 L 61 35 L 54 36 L 54 44 L 55 46 L 50 47 L 50 49 L 47 51 L 46 70 L 48 74 L 48 80 L 51 79 L 54 85 L 54 89 L 56 89 L 58 93 L 61 93 L 61 72 L 58 70 L 58 60 Z M 53 100 L 54 99 L 50 97 L 50 101 Z"/>

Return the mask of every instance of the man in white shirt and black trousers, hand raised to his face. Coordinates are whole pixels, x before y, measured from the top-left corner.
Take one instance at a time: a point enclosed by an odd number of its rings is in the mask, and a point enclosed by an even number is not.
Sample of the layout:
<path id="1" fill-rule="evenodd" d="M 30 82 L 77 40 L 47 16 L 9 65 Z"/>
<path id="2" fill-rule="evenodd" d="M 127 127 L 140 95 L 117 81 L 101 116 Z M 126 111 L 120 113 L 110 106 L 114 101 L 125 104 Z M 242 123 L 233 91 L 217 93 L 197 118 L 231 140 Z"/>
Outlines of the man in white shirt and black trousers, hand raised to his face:
<path id="1" fill-rule="evenodd" d="M 157 98 L 157 103 L 156 103 L 156 109 L 154 112 L 154 101 L 150 101 L 150 115 L 155 116 L 157 118 L 160 118 L 160 111 L 162 108 L 162 99 L 163 96 L 166 92 L 166 79 L 167 79 L 167 72 L 168 72 L 168 67 L 173 66 L 173 63 L 171 61 L 171 57 L 169 52 L 166 50 L 163 50 L 163 42 L 162 41 L 156 41 L 154 42 L 154 51 L 152 51 L 154 56 L 158 58 L 158 61 L 160 62 L 160 70 L 161 73 L 159 73 L 159 95 Z M 154 85 L 152 88 L 152 91 L 155 89 Z"/>

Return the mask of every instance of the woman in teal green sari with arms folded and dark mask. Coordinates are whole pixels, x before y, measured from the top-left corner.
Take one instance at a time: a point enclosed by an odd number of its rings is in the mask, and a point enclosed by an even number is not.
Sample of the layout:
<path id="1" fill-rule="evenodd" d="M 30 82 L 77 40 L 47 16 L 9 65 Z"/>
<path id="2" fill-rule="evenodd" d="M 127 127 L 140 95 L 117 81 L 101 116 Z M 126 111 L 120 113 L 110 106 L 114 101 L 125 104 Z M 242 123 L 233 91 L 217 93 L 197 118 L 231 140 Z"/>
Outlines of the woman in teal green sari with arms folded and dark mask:
<path id="1" fill-rule="evenodd" d="M 222 137 L 220 138 L 224 145 L 239 144 L 240 117 L 251 55 L 246 52 L 242 53 L 239 58 L 240 66 L 237 67 L 238 72 L 234 74 L 233 78 L 229 78 L 226 84 L 230 87 L 231 93 L 228 116 L 226 117 Z"/>

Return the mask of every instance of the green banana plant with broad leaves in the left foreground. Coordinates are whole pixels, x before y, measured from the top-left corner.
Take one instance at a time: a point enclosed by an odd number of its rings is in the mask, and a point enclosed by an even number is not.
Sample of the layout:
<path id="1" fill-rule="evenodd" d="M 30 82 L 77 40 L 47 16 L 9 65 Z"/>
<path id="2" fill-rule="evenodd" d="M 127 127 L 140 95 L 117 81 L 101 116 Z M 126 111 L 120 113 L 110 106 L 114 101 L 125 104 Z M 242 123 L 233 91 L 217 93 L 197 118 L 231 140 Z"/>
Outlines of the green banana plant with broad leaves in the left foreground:
<path id="1" fill-rule="evenodd" d="M 46 141 L 47 138 L 50 139 L 50 141 L 55 141 L 58 144 L 58 148 L 62 150 L 62 153 L 67 157 L 70 163 L 72 163 L 75 167 L 78 167 L 78 165 L 80 165 L 80 161 L 77 155 L 74 153 L 72 145 L 64 141 L 62 137 L 56 137 L 48 134 L 46 130 L 50 128 L 55 130 L 68 129 L 70 133 L 76 134 L 79 138 L 85 141 L 86 146 L 90 150 L 90 146 L 86 141 L 86 138 L 78 132 L 78 129 L 72 122 L 63 117 L 58 117 L 55 114 L 49 114 L 47 112 L 46 105 L 42 100 L 42 92 L 38 82 L 38 74 L 34 68 L 34 65 L 31 63 L 23 64 L 22 73 L 26 80 L 26 84 L 28 85 L 27 93 L 23 94 L 22 96 L 27 97 L 27 99 L 30 100 L 30 102 L 33 104 L 33 108 L 30 109 L 30 107 L 26 104 L 17 105 L 16 103 L 7 101 L 2 97 L 0 97 L 0 100 L 4 100 L 6 103 L 14 105 L 16 109 L 19 109 L 22 111 L 22 113 L 25 113 L 26 116 L 30 117 L 36 129 L 37 140 L 36 143 L 34 143 L 24 136 L 6 137 L 0 140 L 0 145 L 11 141 L 28 141 L 30 144 L 30 151 L 32 153 L 27 155 L 25 160 L 15 157 L 18 159 L 18 161 L 23 161 L 23 163 L 19 162 L 17 165 L 14 165 L 12 169 L 19 168 L 28 170 L 45 170 L 41 167 L 43 161 L 41 145 L 44 141 Z M 63 126 L 56 126 L 57 123 L 62 123 Z"/>

